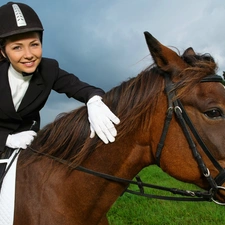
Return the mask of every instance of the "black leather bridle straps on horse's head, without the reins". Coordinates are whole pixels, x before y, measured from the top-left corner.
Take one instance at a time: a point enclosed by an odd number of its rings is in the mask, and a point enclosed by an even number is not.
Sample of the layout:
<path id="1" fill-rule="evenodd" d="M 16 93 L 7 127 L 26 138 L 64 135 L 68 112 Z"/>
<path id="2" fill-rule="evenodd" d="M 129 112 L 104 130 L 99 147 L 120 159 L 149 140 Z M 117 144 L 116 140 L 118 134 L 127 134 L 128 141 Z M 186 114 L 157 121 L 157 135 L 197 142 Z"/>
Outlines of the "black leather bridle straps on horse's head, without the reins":
<path id="1" fill-rule="evenodd" d="M 201 82 L 222 82 L 222 77 L 218 75 L 209 75 L 201 80 Z M 179 99 L 174 99 L 176 93 L 173 89 L 173 83 L 169 77 L 165 78 L 165 92 L 167 95 L 167 101 L 168 101 L 168 109 L 167 109 L 167 115 L 164 122 L 163 132 L 159 141 L 159 144 L 157 146 L 156 151 L 156 162 L 158 166 L 160 166 L 160 157 L 163 150 L 164 142 L 166 139 L 166 135 L 169 129 L 170 122 L 172 120 L 173 113 L 175 113 L 175 116 L 177 120 L 179 121 L 179 124 L 183 130 L 183 133 L 187 139 L 187 142 L 189 144 L 190 149 L 192 150 L 193 156 L 196 159 L 198 166 L 201 170 L 201 173 L 204 175 L 204 177 L 207 179 L 211 189 L 210 193 L 212 194 L 211 200 L 213 200 L 217 204 L 225 205 L 225 203 L 220 203 L 216 200 L 214 200 L 215 194 L 218 192 L 219 189 L 225 190 L 224 187 L 221 185 L 225 182 L 225 169 L 218 163 L 218 161 L 213 157 L 207 146 L 202 141 L 200 135 L 198 134 L 197 130 L 195 129 L 194 125 L 192 124 L 190 118 L 188 117 L 188 114 L 186 110 L 183 107 L 183 104 Z M 207 157 L 210 159 L 210 161 L 213 163 L 215 168 L 219 171 L 219 174 L 215 177 L 215 179 L 212 178 L 209 169 L 206 167 L 204 161 L 202 160 L 201 155 L 199 154 L 196 145 L 191 137 L 191 133 L 195 137 L 198 144 L 201 146 L 204 153 L 207 155 Z"/>

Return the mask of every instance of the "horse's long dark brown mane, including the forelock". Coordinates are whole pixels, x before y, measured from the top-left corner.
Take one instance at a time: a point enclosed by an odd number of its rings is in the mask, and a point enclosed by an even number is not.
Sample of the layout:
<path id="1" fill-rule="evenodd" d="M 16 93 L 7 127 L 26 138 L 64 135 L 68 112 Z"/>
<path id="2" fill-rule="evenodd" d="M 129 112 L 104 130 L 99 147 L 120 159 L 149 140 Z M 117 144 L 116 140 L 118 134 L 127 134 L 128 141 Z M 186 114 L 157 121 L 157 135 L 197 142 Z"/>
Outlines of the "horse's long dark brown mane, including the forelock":
<path id="1" fill-rule="evenodd" d="M 180 89 L 179 97 L 189 93 L 203 77 L 215 73 L 216 69 L 216 63 L 208 54 L 194 56 L 183 54 L 181 58 L 190 67 L 177 75 L 179 81 L 176 82 L 175 88 Z M 168 75 L 162 69 L 152 64 L 137 77 L 122 82 L 104 95 L 103 101 L 121 120 L 116 127 L 117 140 L 127 134 L 134 134 L 135 130 L 146 123 L 146 116 L 148 120 L 151 118 L 150 115 L 159 101 L 159 93 L 164 89 L 163 77 Z M 55 121 L 41 129 L 30 148 L 59 159 L 69 160 L 73 166 L 78 166 L 96 147 L 103 145 L 98 137 L 90 139 L 89 135 L 87 108 L 82 106 L 60 114 Z"/>

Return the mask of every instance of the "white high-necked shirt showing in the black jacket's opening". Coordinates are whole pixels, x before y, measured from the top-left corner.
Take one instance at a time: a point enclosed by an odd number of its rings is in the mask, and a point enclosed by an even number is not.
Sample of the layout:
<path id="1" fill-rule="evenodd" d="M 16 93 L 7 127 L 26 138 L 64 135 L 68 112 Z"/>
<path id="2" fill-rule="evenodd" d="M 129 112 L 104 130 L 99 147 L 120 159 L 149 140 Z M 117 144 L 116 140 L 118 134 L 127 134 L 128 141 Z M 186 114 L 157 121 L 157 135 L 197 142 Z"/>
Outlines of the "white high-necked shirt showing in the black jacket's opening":
<path id="1" fill-rule="evenodd" d="M 15 110 L 17 111 L 27 91 L 32 75 L 24 77 L 22 73 L 17 72 L 13 68 L 13 66 L 10 64 L 9 70 L 8 70 L 8 78 L 9 78 L 9 85 L 11 89 L 13 104 L 14 104 Z"/>

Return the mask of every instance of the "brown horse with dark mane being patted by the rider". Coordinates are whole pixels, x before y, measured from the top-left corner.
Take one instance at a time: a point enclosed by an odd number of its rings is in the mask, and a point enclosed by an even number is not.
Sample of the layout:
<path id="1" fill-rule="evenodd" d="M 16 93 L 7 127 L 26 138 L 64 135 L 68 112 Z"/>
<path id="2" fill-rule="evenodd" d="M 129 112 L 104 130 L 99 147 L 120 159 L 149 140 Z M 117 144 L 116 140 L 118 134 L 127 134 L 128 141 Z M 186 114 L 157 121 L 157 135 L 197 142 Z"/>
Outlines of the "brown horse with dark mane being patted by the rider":
<path id="1" fill-rule="evenodd" d="M 225 201 L 225 89 L 218 76 L 210 78 L 217 65 L 208 54 L 189 48 L 180 56 L 148 32 L 145 37 L 155 63 L 104 96 L 121 120 L 114 143 L 89 138 L 84 106 L 44 127 L 21 152 L 14 225 L 108 224 L 106 213 L 127 183 L 79 171 L 77 166 L 132 179 L 158 161 L 178 180 L 206 190 L 214 186 L 214 197 Z M 180 119 L 183 111 L 200 141 Z M 204 146 L 210 152 L 205 153 Z"/>

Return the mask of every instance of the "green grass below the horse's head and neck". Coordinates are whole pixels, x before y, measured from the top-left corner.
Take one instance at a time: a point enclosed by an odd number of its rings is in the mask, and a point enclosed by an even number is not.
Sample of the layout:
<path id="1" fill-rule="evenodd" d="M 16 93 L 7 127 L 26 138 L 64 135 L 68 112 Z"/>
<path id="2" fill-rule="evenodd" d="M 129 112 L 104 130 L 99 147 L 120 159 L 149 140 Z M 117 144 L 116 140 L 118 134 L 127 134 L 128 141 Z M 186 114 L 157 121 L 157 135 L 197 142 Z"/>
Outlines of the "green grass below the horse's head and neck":
<path id="1" fill-rule="evenodd" d="M 156 166 L 145 168 L 139 175 L 145 183 L 200 190 L 195 185 L 175 180 Z M 153 189 L 146 193 L 174 196 Z M 124 193 L 108 212 L 108 219 L 110 225 L 224 225 L 224 207 L 213 202 L 165 201 Z"/>

